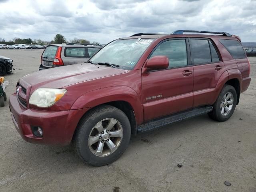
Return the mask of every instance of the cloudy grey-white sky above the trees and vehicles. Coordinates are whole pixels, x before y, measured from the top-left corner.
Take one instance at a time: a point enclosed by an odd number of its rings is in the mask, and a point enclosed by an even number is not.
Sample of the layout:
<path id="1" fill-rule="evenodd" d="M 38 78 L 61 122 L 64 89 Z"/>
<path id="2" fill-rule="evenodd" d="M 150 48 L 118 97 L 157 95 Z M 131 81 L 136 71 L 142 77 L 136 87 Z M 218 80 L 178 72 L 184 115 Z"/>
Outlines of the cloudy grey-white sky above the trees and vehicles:
<path id="1" fill-rule="evenodd" d="M 229 32 L 256 42 L 256 0 L 0 0 L 0 37 L 85 38 L 106 44 L 139 32 Z"/>

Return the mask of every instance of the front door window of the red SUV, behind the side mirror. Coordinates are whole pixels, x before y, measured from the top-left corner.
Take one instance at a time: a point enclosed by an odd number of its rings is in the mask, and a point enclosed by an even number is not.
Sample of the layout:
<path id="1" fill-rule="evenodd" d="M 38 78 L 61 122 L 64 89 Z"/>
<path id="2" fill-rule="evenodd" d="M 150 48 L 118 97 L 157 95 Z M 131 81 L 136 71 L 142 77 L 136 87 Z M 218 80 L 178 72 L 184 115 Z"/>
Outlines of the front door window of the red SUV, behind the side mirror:
<path id="1" fill-rule="evenodd" d="M 169 67 L 180 67 L 188 65 L 187 48 L 184 39 L 168 40 L 162 42 L 152 53 L 150 58 L 164 55 L 169 59 Z"/>

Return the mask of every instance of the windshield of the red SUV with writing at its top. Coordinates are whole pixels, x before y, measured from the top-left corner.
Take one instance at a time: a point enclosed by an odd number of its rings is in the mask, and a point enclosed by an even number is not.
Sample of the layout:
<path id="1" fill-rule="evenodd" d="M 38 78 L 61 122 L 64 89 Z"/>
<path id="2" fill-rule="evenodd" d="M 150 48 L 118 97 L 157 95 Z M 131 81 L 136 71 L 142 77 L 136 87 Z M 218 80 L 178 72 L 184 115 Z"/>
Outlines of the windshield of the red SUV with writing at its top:
<path id="1" fill-rule="evenodd" d="M 115 40 L 98 51 L 90 60 L 93 63 L 110 63 L 121 69 L 133 69 L 154 39 Z"/>

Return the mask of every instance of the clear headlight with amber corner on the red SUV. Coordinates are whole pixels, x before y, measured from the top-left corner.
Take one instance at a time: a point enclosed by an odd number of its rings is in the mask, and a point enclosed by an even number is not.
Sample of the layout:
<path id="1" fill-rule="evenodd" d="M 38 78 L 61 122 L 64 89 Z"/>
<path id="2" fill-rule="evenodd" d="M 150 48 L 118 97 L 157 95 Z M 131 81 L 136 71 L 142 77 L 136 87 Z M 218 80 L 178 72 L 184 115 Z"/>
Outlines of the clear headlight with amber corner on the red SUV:
<path id="1" fill-rule="evenodd" d="M 66 92 L 66 89 L 39 88 L 30 96 L 29 104 L 38 107 L 49 107 L 60 100 Z"/>

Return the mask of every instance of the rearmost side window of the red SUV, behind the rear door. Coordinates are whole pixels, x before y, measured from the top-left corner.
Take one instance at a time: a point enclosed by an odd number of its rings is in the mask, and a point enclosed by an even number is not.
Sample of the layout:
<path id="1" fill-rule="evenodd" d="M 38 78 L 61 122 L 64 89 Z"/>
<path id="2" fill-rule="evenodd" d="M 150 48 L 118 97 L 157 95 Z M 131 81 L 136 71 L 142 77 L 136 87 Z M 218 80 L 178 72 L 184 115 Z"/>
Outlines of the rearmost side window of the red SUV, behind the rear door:
<path id="1" fill-rule="evenodd" d="M 245 58 L 244 49 L 239 41 L 229 40 L 229 39 L 219 39 L 219 40 L 234 59 Z"/>

